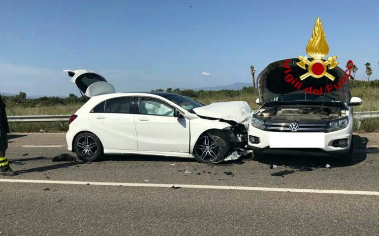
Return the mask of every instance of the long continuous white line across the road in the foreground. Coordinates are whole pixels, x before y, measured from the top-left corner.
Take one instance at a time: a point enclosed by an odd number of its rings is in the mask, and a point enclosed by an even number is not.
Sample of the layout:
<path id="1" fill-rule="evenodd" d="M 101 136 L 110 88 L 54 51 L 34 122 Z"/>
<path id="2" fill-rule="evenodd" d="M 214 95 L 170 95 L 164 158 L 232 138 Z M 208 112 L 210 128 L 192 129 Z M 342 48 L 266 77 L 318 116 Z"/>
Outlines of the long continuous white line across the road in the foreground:
<path id="1" fill-rule="evenodd" d="M 298 188 L 265 188 L 244 186 L 221 186 L 221 185 L 192 185 L 192 184 L 160 184 L 160 183 L 117 183 L 117 182 L 86 182 L 86 181 L 61 181 L 61 180 L 38 180 L 38 179 L 1 179 L 0 182 L 13 183 L 51 183 L 51 184 L 79 184 L 79 185 L 102 185 L 102 186 L 127 186 L 127 187 L 159 187 L 171 188 L 173 185 L 181 188 L 199 189 L 228 189 L 267 192 L 292 192 L 292 193 L 323 193 L 323 194 L 352 194 L 379 196 L 376 191 L 351 191 L 351 190 L 326 190 L 326 189 L 298 189 Z"/>

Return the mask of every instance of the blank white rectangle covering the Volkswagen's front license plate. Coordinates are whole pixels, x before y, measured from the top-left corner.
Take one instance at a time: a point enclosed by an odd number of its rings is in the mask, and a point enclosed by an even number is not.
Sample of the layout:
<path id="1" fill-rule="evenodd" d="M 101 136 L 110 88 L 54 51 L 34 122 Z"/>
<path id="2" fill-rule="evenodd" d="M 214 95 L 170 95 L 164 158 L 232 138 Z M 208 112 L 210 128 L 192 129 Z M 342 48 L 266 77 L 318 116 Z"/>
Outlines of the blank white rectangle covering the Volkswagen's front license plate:
<path id="1" fill-rule="evenodd" d="M 270 148 L 325 148 L 325 134 L 271 133 Z"/>

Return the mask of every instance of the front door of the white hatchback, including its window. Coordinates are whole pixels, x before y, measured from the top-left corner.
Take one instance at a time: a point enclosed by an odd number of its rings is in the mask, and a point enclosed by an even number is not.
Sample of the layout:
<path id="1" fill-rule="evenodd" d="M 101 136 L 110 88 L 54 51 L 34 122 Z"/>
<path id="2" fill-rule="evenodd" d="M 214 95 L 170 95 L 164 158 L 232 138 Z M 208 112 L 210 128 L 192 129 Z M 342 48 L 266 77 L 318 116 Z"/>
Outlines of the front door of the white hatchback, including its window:
<path id="1" fill-rule="evenodd" d="M 163 100 L 139 97 L 135 115 L 138 150 L 189 152 L 189 120 Z"/>

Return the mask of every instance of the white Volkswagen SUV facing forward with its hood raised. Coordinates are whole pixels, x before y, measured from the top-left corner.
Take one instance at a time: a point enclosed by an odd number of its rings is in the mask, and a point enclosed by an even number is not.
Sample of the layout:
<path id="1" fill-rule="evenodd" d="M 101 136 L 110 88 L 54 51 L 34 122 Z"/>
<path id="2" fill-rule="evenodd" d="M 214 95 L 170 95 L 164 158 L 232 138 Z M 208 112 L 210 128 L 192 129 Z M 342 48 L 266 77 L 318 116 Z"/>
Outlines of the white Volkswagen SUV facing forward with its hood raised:
<path id="1" fill-rule="evenodd" d="M 351 97 L 346 72 L 328 70 L 335 79 L 300 78 L 307 71 L 296 65 L 298 59 L 269 64 L 258 76 L 257 104 L 249 127 L 249 148 L 253 159 L 265 153 L 323 155 L 351 161 L 352 106 L 362 100 Z M 286 68 L 284 68 L 284 66 Z M 291 76 L 286 76 L 290 72 Z M 345 77 L 345 79 L 344 79 Z M 287 80 L 286 80 L 287 78 Z"/>

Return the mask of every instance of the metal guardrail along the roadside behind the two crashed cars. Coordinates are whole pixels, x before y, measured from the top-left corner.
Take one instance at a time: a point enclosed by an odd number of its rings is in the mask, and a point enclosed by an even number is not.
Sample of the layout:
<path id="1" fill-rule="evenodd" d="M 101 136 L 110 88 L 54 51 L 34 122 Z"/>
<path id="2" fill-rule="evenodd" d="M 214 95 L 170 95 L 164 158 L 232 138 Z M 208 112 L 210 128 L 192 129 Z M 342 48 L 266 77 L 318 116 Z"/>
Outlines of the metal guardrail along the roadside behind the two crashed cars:
<path id="1" fill-rule="evenodd" d="M 8 122 L 50 122 L 68 121 L 71 115 L 42 115 L 42 116 L 11 116 Z M 354 112 L 354 118 L 358 120 L 358 127 L 361 121 L 369 118 L 379 118 L 379 111 Z"/>

